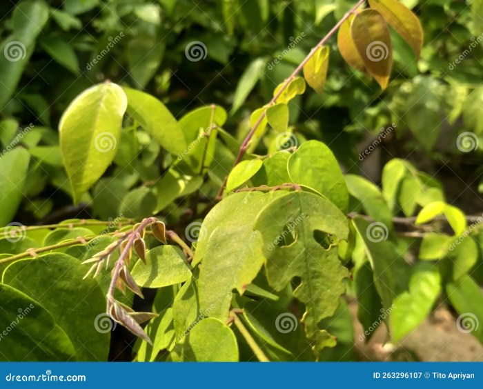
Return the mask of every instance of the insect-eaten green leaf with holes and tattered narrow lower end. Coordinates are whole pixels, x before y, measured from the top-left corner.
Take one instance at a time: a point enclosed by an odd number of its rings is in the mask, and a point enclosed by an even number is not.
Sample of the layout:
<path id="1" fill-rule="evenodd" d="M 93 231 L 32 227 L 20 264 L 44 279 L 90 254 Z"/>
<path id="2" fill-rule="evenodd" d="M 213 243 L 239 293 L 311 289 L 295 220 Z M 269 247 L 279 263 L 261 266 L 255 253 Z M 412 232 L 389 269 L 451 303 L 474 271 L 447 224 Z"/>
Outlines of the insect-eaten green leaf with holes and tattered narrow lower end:
<path id="1" fill-rule="evenodd" d="M 324 197 L 290 192 L 259 212 L 255 231 L 262 234 L 270 286 L 282 290 L 295 277 L 302 280 L 293 295 L 306 305 L 302 322 L 308 339 L 315 342 L 313 350 L 333 345 L 319 322 L 339 306 L 348 270 L 339 261 L 337 247 L 324 247 L 321 235 L 330 234 L 333 242 L 346 240 L 346 216 Z"/>

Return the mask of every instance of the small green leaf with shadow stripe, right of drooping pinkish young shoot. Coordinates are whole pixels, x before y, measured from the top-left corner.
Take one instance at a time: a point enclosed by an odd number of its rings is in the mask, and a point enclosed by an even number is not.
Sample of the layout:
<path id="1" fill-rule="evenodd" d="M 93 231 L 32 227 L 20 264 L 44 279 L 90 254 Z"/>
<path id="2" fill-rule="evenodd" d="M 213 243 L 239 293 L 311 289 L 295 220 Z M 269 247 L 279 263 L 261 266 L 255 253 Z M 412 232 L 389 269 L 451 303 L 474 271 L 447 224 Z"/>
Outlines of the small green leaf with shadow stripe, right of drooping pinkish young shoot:
<path id="1" fill-rule="evenodd" d="M 158 246 L 146 252 L 146 263 L 136 262 L 131 275 L 141 288 L 161 288 L 187 281 L 191 271 L 177 246 Z"/>

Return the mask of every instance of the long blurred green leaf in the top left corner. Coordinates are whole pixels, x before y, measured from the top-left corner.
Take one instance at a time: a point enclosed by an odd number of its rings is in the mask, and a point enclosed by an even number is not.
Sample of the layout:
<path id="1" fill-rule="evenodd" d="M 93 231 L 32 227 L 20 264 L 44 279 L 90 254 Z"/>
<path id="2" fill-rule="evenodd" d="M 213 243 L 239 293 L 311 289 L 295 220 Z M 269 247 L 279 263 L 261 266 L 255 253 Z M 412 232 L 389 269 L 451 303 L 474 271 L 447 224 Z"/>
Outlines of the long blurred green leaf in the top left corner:
<path id="1" fill-rule="evenodd" d="M 48 20 L 44 1 L 21 1 L 13 8 L 13 34 L 0 44 L 0 110 L 14 94 L 34 51 L 35 39 Z"/>

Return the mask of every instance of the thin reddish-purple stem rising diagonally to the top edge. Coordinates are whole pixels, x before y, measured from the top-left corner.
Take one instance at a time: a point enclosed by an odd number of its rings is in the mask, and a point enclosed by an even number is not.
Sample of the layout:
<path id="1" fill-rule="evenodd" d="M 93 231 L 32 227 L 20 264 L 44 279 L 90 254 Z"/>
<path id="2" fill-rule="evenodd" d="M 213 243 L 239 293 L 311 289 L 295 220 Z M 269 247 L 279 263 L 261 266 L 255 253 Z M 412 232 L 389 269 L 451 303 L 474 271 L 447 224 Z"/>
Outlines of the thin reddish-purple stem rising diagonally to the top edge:
<path id="1" fill-rule="evenodd" d="M 288 87 L 288 84 L 290 83 L 290 81 L 292 81 L 293 79 L 295 79 L 295 77 L 297 76 L 297 74 L 299 74 L 299 72 L 304 68 L 304 66 L 306 65 L 306 63 L 308 61 L 310 61 L 310 59 L 313 57 L 313 55 L 315 54 L 315 52 L 321 48 L 322 46 L 324 46 L 324 44 L 328 41 L 328 39 L 330 39 L 332 37 L 332 35 L 339 29 L 340 26 L 342 26 L 342 23 L 344 23 L 344 21 L 346 21 L 346 19 L 351 16 L 351 14 L 353 14 L 353 12 L 355 12 L 355 10 L 357 10 L 357 8 L 359 8 L 360 6 L 362 6 L 362 4 L 364 3 L 364 1 L 366 0 L 359 0 L 357 1 L 357 3 L 355 4 L 355 6 L 353 6 L 353 8 L 351 8 L 350 11 L 348 11 L 346 14 L 344 14 L 344 17 L 342 17 L 342 19 L 340 19 L 337 24 L 332 28 L 332 30 L 330 30 L 329 32 L 327 32 L 326 36 L 324 38 L 322 38 L 319 43 L 317 43 L 317 46 L 315 46 L 314 48 L 312 48 L 311 52 L 309 52 L 307 54 L 307 56 L 304 58 L 304 60 L 299 64 L 299 66 L 297 66 L 297 68 L 292 72 L 292 74 L 290 74 L 290 77 L 288 77 L 288 79 L 286 79 L 282 85 L 282 87 L 279 89 L 279 91 L 277 92 L 277 94 L 275 94 L 275 96 L 270 100 L 270 102 L 267 104 L 268 106 L 273 106 L 273 104 L 276 103 L 277 99 L 282 95 L 282 93 L 286 90 L 286 88 Z M 253 128 L 251 128 L 250 132 L 248 132 L 248 134 L 246 135 L 243 143 L 242 143 L 242 146 L 240 146 L 239 150 L 238 150 L 238 155 L 237 155 L 237 158 L 235 159 L 235 162 L 233 163 L 233 168 L 235 166 L 237 166 L 237 164 L 242 161 L 242 158 L 244 157 L 245 153 L 246 153 L 246 149 L 248 148 L 248 143 L 250 142 L 250 140 L 252 139 L 253 137 L 253 134 L 255 134 L 255 131 L 257 130 L 258 126 L 260 125 L 260 123 L 262 123 L 262 121 L 264 120 L 265 116 L 266 116 L 266 110 L 264 110 L 262 112 L 262 114 L 260 115 L 260 117 L 258 118 L 258 120 L 256 121 L 256 123 L 253 125 Z M 233 169 L 232 168 L 232 169 Z M 217 199 L 221 199 L 221 197 L 223 196 L 223 190 L 226 186 L 226 180 L 228 179 L 228 176 L 225 177 L 223 183 L 221 184 L 221 188 L 217 194 Z"/>

